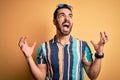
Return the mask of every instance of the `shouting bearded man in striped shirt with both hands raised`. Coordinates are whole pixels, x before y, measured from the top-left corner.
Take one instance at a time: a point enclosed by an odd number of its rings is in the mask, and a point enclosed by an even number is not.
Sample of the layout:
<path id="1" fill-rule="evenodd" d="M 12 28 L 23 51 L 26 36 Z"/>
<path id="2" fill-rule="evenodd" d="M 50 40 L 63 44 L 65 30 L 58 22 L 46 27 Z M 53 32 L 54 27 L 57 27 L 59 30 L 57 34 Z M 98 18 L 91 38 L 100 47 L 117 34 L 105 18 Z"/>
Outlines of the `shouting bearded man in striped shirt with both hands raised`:
<path id="1" fill-rule="evenodd" d="M 37 64 L 32 58 L 32 47 L 27 45 L 27 38 L 22 37 L 19 47 L 24 53 L 30 70 L 37 80 L 84 80 L 83 68 L 91 80 L 96 80 L 101 69 L 101 60 L 104 57 L 103 48 L 108 41 L 106 33 L 100 32 L 100 41 L 95 44 L 91 41 L 96 53 L 95 60 L 85 41 L 73 38 L 72 7 L 59 4 L 54 12 L 56 35 L 48 42 L 40 45 L 37 54 Z"/>

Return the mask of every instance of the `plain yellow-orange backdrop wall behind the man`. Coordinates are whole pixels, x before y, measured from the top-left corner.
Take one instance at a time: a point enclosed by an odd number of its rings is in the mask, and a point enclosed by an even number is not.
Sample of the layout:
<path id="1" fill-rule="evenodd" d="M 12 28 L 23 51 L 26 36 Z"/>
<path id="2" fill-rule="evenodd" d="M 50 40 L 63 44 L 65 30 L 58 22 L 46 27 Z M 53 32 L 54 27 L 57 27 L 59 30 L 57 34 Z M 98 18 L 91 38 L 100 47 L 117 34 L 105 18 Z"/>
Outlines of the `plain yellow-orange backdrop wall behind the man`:
<path id="1" fill-rule="evenodd" d="M 59 3 L 73 6 L 72 35 L 97 42 L 99 32 L 107 32 L 98 80 L 120 79 L 120 0 L 0 0 L 0 80 L 33 80 L 24 55 L 18 47 L 19 38 L 28 35 L 28 43 L 39 44 L 53 38 L 53 12 Z M 89 80 L 85 75 L 85 80 Z"/>

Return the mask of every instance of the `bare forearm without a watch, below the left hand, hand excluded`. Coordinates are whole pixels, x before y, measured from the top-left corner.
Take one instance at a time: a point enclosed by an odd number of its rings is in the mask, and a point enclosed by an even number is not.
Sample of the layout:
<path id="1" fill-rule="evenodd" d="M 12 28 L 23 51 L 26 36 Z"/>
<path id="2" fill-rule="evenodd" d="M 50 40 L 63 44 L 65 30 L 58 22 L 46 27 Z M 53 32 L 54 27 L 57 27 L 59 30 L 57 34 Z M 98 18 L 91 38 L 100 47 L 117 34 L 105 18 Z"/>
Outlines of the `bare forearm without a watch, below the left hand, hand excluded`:
<path id="1" fill-rule="evenodd" d="M 26 59 L 27 59 L 30 71 L 31 71 L 32 75 L 34 76 L 34 78 L 37 80 L 44 80 L 43 79 L 44 75 L 43 75 L 42 71 L 35 64 L 33 58 L 30 57 L 30 58 L 26 58 Z"/>

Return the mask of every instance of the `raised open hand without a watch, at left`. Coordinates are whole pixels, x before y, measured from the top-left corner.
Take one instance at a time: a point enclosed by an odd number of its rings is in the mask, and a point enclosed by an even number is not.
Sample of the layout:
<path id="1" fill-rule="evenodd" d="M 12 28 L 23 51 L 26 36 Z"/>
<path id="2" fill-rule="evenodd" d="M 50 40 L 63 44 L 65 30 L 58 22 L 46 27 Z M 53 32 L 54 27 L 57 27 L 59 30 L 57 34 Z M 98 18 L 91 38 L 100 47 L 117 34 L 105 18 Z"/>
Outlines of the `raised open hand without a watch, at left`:
<path id="1" fill-rule="evenodd" d="M 18 45 L 26 58 L 32 57 L 36 42 L 30 47 L 27 44 L 27 37 L 21 37 Z"/>

